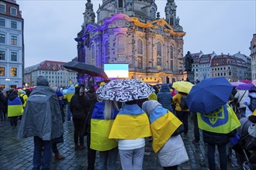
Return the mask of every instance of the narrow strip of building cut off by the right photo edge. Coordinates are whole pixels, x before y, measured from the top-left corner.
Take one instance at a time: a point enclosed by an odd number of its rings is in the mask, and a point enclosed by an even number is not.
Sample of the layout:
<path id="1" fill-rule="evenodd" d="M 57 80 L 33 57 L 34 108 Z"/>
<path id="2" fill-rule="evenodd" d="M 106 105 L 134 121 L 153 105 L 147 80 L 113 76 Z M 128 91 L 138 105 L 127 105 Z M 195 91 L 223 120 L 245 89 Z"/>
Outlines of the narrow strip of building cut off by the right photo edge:
<path id="1" fill-rule="evenodd" d="M 256 34 L 251 39 L 251 78 L 256 80 Z"/>

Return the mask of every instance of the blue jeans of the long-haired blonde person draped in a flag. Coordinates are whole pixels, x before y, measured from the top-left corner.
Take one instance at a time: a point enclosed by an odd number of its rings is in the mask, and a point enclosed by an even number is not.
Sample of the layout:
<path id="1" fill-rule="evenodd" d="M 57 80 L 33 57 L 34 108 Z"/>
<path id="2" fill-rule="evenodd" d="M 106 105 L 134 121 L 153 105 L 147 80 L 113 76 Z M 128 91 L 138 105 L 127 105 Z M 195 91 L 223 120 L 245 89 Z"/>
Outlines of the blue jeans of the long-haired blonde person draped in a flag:
<path id="1" fill-rule="evenodd" d="M 112 148 L 109 151 L 99 151 L 99 170 L 116 170 L 116 159 L 118 148 Z"/>

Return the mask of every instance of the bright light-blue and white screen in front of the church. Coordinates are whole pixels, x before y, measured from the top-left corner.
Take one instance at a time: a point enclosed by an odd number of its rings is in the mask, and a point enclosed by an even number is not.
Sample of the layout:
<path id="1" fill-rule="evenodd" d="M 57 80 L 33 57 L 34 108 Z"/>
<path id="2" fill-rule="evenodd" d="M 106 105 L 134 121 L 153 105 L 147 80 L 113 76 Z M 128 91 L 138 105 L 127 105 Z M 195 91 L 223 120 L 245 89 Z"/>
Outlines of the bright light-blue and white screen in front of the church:
<path id="1" fill-rule="evenodd" d="M 105 63 L 104 71 L 109 78 L 129 78 L 128 63 Z"/>

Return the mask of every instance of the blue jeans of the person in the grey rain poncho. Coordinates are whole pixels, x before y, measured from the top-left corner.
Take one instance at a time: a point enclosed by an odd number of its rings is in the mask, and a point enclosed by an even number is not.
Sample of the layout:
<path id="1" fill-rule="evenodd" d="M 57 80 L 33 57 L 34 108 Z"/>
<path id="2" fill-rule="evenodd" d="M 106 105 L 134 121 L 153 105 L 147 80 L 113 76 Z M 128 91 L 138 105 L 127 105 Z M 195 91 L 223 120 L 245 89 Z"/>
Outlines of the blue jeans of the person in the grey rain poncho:
<path id="1" fill-rule="evenodd" d="M 50 158 L 52 141 L 43 141 L 41 138 L 34 136 L 34 153 L 33 153 L 33 169 L 50 169 Z M 43 152 L 43 158 L 41 158 Z M 41 160 L 42 159 L 42 160 Z"/>

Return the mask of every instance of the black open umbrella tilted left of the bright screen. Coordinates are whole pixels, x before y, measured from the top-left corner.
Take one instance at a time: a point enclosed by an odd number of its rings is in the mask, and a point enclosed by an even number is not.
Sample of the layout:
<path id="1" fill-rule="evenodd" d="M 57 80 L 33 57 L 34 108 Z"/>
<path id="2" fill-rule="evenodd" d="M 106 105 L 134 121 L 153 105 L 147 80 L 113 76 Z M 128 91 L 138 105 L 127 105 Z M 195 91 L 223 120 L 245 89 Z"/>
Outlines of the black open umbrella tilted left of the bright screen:
<path id="1" fill-rule="evenodd" d="M 64 63 L 63 66 L 67 69 L 78 71 L 79 73 L 85 73 L 91 76 L 102 76 L 103 78 L 108 79 L 108 76 L 106 75 L 104 70 L 100 69 L 97 66 L 76 61 Z"/>

